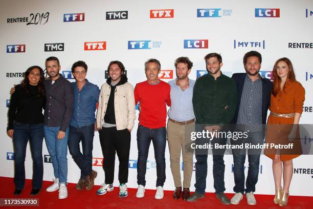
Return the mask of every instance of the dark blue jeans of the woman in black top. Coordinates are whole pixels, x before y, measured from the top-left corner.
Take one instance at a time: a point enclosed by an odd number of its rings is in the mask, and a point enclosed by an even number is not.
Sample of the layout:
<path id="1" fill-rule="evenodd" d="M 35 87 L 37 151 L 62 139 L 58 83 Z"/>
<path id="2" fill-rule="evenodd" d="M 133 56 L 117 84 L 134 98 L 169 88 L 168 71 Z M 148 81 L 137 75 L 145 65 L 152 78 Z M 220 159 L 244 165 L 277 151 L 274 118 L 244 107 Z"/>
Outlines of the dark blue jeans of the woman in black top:
<path id="1" fill-rule="evenodd" d="M 26 147 L 30 141 L 33 158 L 33 189 L 41 189 L 43 177 L 42 141 L 43 123 L 26 124 L 14 122 L 14 183 L 16 190 L 24 189 Z"/>

